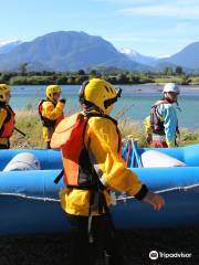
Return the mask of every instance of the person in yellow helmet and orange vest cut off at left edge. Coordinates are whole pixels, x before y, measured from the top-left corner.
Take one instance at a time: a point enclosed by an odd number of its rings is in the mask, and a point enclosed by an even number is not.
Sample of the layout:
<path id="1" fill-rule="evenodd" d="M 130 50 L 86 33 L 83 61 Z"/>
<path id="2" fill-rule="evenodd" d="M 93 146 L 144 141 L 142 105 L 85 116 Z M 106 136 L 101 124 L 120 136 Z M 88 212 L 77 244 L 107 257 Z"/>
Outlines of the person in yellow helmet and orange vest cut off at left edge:
<path id="1" fill-rule="evenodd" d="M 10 137 L 14 129 L 14 112 L 9 105 L 10 86 L 0 84 L 0 149 L 10 148 Z"/>

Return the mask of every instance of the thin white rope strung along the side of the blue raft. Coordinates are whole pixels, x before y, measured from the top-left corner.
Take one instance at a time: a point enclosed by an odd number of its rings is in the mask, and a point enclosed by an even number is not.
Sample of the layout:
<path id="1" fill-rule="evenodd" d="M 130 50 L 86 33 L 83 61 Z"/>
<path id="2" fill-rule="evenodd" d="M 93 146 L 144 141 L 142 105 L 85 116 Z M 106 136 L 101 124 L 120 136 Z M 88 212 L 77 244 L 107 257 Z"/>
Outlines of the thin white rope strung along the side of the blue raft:
<path id="1" fill-rule="evenodd" d="M 154 191 L 155 193 L 166 193 L 166 192 L 171 192 L 171 191 L 188 191 L 195 188 L 199 188 L 199 183 L 197 184 L 191 184 L 191 186 L 185 186 L 185 187 L 175 187 L 175 188 L 168 188 L 159 191 Z M 22 193 L 9 193 L 9 192 L 2 192 L 0 193 L 0 197 L 17 197 L 21 199 L 28 199 L 28 200 L 35 200 L 35 201 L 44 201 L 44 202 L 60 202 L 59 199 L 53 199 L 53 198 L 43 198 L 43 197 L 31 197 L 31 195 L 25 195 Z M 127 195 L 126 193 L 122 193 L 116 198 L 116 201 L 126 201 L 126 200 L 132 200 L 135 199 L 133 195 Z"/>

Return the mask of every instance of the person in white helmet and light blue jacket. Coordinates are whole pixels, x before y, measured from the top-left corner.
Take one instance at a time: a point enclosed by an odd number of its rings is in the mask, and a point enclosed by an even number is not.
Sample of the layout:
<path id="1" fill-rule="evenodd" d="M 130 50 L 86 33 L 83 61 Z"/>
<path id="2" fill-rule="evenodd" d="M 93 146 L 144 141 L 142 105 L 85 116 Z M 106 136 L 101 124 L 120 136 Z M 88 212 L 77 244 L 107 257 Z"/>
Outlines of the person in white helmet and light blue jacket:
<path id="1" fill-rule="evenodd" d="M 178 118 L 174 103 L 177 103 L 178 86 L 169 83 L 164 87 L 164 99 L 151 106 L 145 120 L 146 140 L 153 147 L 175 147 L 178 134 Z"/>

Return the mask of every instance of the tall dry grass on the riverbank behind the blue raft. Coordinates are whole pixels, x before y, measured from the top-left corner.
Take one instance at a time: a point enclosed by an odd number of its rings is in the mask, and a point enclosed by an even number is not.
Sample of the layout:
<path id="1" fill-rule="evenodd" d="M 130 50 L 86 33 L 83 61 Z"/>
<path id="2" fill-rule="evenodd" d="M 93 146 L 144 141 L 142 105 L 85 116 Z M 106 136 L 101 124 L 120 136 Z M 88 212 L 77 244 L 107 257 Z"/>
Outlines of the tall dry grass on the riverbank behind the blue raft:
<path id="1" fill-rule="evenodd" d="M 145 130 L 142 123 L 123 118 L 125 110 L 121 110 L 116 118 L 119 118 L 119 129 L 123 140 L 133 139 L 139 147 L 147 147 L 145 140 Z M 23 131 L 23 137 L 14 130 L 11 137 L 11 148 L 13 149 L 44 149 L 45 145 L 42 138 L 42 125 L 39 115 L 33 110 L 17 112 L 15 127 Z M 193 145 L 199 142 L 199 130 L 190 131 L 186 128 L 180 129 L 179 146 Z"/>

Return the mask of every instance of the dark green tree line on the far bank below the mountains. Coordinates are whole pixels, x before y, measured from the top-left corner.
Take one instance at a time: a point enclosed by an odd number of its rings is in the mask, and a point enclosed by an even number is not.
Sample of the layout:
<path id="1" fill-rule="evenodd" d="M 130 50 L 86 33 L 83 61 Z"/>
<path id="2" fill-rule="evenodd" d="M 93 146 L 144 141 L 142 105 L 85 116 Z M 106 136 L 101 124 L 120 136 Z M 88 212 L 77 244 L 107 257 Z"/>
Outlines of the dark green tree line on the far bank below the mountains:
<path id="1" fill-rule="evenodd" d="M 164 78 L 170 82 L 178 82 L 179 84 L 189 84 L 191 78 L 196 75 L 188 75 L 184 72 L 181 66 L 177 66 L 174 71 L 172 67 L 165 67 L 164 71 L 146 71 L 146 72 L 132 72 L 122 71 L 114 67 L 101 67 L 97 70 L 78 70 L 65 72 L 50 72 L 50 71 L 27 71 L 27 65 L 22 64 L 20 71 L 0 72 L 0 83 L 10 85 L 80 85 L 84 81 L 93 77 L 101 76 L 112 84 L 145 84 L 145 83 L 164 83 Z"/>

